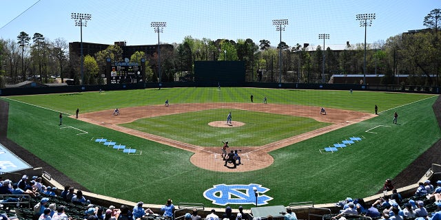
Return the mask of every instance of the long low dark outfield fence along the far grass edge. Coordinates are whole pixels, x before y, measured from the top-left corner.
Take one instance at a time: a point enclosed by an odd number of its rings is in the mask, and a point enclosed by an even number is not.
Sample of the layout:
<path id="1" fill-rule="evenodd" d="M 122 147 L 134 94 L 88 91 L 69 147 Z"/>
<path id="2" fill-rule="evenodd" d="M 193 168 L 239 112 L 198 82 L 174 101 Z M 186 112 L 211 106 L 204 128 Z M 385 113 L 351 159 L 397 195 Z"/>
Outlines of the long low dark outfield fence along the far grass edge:
<path id="1" fill-rule="evenodd" d="M 21 96 L 34 94 L 59 94 L 81 91 L 111 91 L 128 89 L 151 89 L 158 88 L 158 83 L 137 83 L 137 84 L 112 84 L 112 85 L 66 85 L 49 87 L 17 87 L 0 89 L 0 96 Z M 198 82 L 170 82 L 161 83 L 161 88 L 166 87 L 217 87 L 217 83 Z M 245 82 L 223 82 L 221 87 L 256 87 L 269 89 L 329 89 L 353 91 L 390 91 L 409 92 L 422 94 L 440 94 L 440 87 L 400 86 L 400 85 L 358 85 L 358 84 L 327 84 L 327 83 L 254 83 Z"/>

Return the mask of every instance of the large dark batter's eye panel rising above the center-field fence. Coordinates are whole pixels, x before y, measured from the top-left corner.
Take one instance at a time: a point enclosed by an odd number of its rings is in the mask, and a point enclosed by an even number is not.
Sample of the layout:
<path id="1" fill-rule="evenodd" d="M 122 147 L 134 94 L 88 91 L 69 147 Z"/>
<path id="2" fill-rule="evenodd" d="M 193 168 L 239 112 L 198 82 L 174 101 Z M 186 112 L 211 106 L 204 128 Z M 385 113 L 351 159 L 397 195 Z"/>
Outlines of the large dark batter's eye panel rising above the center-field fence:
<path id="1" fill-rule="evenodd" d="M 244 61 L 194 61 L 198 87 L 237 87 L 245 83 Z"/>

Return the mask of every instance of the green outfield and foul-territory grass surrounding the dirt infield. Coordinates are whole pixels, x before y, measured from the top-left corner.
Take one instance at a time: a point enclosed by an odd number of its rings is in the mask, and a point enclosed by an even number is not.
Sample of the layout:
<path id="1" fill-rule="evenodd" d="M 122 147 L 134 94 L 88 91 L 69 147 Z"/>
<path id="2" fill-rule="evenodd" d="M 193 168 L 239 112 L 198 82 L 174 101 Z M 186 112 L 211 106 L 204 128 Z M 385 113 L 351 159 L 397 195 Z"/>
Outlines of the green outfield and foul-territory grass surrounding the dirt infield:
<path id="1" fill-rule="evenodd" d="M 189 162 L 192 153 L 143 140 L 101 126 L 64 118 L 63 124 L 88 131 L 59 129 L 58 111 L 74 113 L 178 102 L 249 102 L 253 93 L 267 96 L 268 102 L 304 104 L 373 112 L 380 115 L 337 131 L 272 151 L 274 164 L 245 173 L 219 173 L 197 168 Z M 432 98 L 430 98 L 432 97 Z M 383 92 L 285 90 L 252 88 L 172 88 L 133 91 L 105 91 L 82 94 L 52 94 L 8 97 L 10 118 L 8 137 L 92 192 L 130 201 L 163 203 L 201 202 L 214 206 L 202 195 L 215 184 L 262 184 L 274 197 L 269 205 L 294 201 L 328 203 L 376 193 L 384 179 L 393 178 L 441 137 L 431 104 L 437 96 L 389 94 Z M 9 99 L 19 100 L 21 102 Z M 2 98 L 3 99 L 3 98 Z M 25 104 L 22 102 L 34 104 Z M 47 109 L 43 109 L 45 107 Z M 398 124 L 392 113 L 398 111 Z M 377 133 L 366 133 L 378 125 Z M 178 132 L 178 131 L 177 131 Z M 320 154 L 319 149 L 347 137 L 363 135 L 364 140 L 336 153 Z M 91 142 L 107 137 L 143 151 L 143 155 L 123 155 Z M 331 192 L 331 193 L 330 193 Z M 249 205 L 244 206 L 249 208 Z"/>

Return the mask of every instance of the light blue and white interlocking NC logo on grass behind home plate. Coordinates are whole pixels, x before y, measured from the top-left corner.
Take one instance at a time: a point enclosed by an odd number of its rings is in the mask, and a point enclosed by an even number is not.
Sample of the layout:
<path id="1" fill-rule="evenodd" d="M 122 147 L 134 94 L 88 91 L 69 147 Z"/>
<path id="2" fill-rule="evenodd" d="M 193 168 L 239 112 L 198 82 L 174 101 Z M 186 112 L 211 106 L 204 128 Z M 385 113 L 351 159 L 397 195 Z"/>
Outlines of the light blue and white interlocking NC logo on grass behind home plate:
<path id="1" fill-rule="evenodd" d="M 256 196 L 254 195 L 253 187 L 256 187 L 258 192 L 257 204 L 266 205 L 269 200 L 273 199 L 263 193 L 267 192 L 269 188 L 262 187 L 258 184 L 249 185 L 225 185 L 218 184 L 205 190 L 204 197 L 212 201 L 213 204 L 225 206 L 227 204 L 256 204 Z"/>

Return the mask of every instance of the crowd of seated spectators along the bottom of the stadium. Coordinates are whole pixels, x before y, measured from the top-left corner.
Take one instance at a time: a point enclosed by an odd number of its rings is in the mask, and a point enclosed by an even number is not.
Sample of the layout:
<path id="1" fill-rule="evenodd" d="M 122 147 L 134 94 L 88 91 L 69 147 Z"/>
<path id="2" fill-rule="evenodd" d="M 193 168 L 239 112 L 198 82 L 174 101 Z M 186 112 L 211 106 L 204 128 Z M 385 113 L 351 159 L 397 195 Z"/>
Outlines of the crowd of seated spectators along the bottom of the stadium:
<path id="1" fill-rule="evenodd" d="M 384 195 L 371 203 L 369 207 L 365 204 L 363 199 L 347 197 L 345 200 L 336 203 L 336 206 L 342 209 L 337 214 L 331 214 L 329 219 L 347 220 L 366 216 L 371 217 L 371 219 L 381 220 L 441 220 L 441 180 L 438 180 L 436 183 L 436 188 L 431 185 L 431 181 L 419 183 L 415 195 L 409 198 L 403 198 L 396 188 L 393 188 L 393 184 L 388 179 L 384 183 Z M 59 192 L 57 188 L 45 186 L 42 184 L 41 177 L 37 176 L 30 179 L 27 175 L 23 175 L 16 183 L 10 179 L 0 177 L 0 184 L 0 195 L 15 195 L 15 197 L 3 196 L 3 198 L 1 198 L 0 205 L 2 205 L 2 209 L 6 210 L 6 212 L 0 214 L 0 219 L 27 219 L 20 217 L 19 214 L 10 214 L 10 216 L 8 216 L 10 203 L 18 202 L 17 207 L 22 208 L 23 212 L 26 212 L 25 206 L 20 203 L 25 197 L 21 197 L 20 195 L 27 195 L 30 201 L 32 201 L 33 208 L 31 213 L 28 213 L 28 216 L 35 220 L 167 220 L 174 218 L 174 211 L 176 210 L 172 199 L 168 199 L 161 207 L 159 210 L 161 214 L 154 213 L 150 208 L 143 208 L 144 203 L 142 201 L 136 203 L 136 206 L 133 208 L 129 206 L 121 206 L 119 208 L 114 206 L 109 206 L 108 208 L 96 206 L 84 197 L 81 190 L 75 190 L 71 186 L 65 186 L 61 193 L 57 193 Z M 5 204 L 4 207 L 3 204 Z M 183 219 L 258 220 L 256 218 L 253 219 L 252 216 L 243 212 L 242 206 L 239 206 L 238 210 L 238 213 L 233 213 L 232 208 L 227 206 L 225 212 L 219 217 L 216 210 L 213 209 L 207 217 L 203 218 L 197 209 L 193 209 L 191 213 L 185 213 Z M 296 213 L 294 213 L 291 208 L 287 208 L 286 212 L 281 212 L 281 214 L 283 214 L 285 220 L 297 220 Z M 265 219 L 273 218 L 268 216 Z"/>

